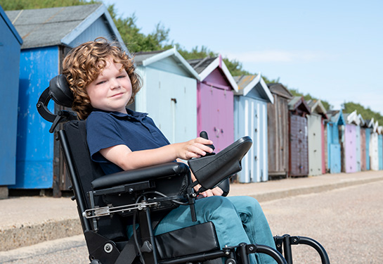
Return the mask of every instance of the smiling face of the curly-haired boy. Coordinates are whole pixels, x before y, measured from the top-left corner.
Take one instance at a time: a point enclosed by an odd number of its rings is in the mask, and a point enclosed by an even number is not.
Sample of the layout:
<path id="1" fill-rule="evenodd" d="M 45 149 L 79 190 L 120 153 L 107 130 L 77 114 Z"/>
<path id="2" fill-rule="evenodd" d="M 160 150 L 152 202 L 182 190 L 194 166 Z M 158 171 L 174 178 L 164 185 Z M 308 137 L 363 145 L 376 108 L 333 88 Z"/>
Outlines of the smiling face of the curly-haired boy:
<path id="1" fill-rule="evenodd" d="M 126 113 L 126 104 L 131 98 L 131 82 L 121 63 L 107 61 L 96 80 L 86 87 L 93 108 L 103 111 Z"/>

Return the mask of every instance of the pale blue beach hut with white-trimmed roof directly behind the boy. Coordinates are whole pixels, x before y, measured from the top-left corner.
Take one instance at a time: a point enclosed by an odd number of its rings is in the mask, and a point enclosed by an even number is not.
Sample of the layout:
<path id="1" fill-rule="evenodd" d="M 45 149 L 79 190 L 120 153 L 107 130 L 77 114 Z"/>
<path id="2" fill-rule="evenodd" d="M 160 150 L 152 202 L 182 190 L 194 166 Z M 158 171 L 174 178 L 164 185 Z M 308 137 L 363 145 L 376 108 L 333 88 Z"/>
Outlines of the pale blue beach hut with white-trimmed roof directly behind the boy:
<path id="1" fill-rule="evenodd" d="M 197 137 L 197 72 L 176 48 L 135 54 L 143 87 L 135 110 L 149 113 L 171 143 Z"/>

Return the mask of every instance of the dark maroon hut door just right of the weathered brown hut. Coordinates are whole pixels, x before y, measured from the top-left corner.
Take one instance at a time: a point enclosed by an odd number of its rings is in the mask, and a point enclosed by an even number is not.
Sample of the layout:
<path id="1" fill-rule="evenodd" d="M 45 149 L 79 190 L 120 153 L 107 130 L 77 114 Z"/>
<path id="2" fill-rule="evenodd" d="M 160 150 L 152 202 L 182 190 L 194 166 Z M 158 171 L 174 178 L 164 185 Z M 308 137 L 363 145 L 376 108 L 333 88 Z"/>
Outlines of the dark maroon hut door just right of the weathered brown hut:
<path id="1" fill-rule="evenodd" d="M 290 176 L 309 174 L 307 120 L 290 114 Z"/>

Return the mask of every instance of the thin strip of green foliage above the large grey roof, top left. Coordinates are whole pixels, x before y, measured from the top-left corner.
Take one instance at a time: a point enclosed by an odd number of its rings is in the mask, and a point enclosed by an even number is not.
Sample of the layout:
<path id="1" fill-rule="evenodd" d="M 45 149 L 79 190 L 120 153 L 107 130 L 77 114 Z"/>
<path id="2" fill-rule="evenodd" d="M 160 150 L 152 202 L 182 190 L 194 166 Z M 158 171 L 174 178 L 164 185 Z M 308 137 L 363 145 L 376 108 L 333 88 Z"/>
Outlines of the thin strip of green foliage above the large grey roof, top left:
<path id="1" fill-rule="evenodd" d="M 101 4 L 101 1 L 86 0 L 0 0 L 5 11 L 21 9 L 51 8 L 59 6 L 79 6 L 85 4 Z"/>

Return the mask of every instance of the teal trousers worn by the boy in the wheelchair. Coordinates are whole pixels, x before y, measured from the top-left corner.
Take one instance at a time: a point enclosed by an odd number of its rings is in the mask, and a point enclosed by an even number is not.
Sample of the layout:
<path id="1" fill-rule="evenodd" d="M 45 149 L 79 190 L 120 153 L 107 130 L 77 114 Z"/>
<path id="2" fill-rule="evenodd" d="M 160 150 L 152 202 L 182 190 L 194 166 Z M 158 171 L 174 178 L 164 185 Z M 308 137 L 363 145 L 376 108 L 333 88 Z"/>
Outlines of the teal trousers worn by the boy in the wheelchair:
<path id="1" fill-rule="evenodd" d="M 275 249 L 273 235 L 258 201 L 249 196 L 211 196 L 195 201 L 197 222 L 190 216 L 189 206 L 171 210 L 157 225 L 155 234 L 163 234 L 183 227 L 212 221 L 216 228 L 219 245 L 237 246 L 263 244 Z M 201 240 L 204 237 L 201 237 Z M 271 264 L 275 260 L 265 254 L 250 254 L 252 264 Z"/>

